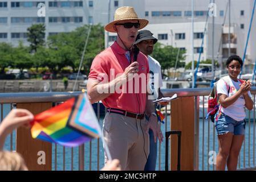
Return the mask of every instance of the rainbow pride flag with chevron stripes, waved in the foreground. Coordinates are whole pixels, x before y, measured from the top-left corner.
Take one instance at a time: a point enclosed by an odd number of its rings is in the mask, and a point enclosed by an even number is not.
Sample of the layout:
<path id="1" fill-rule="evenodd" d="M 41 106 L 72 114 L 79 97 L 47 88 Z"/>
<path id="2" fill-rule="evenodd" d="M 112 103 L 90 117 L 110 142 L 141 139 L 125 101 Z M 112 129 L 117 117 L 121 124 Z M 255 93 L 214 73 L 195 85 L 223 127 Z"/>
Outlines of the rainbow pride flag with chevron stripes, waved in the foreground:
<path id="1" fill-rule="evenodd" d="M 101 136 L 99 122 L 86 94 L 35 115 L 31 125 L 32 138 L 67 147 Z"/>

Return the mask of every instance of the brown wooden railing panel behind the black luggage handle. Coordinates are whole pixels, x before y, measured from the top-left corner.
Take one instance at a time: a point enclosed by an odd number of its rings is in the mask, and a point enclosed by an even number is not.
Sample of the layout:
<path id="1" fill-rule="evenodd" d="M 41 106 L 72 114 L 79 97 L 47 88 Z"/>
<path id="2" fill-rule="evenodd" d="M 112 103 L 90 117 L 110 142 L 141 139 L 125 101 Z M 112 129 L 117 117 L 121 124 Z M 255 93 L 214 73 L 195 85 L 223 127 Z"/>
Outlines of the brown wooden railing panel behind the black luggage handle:
<path id="1" fill-rule="evenodd" d="M 194 170 L 194 147 L 195 147 L 195 99 L 194 97 L 180 97 L 171 101 L 170 113 L 172 118 L 171 130 L 179 130 L 181 137 L 181 170 Z M 185 113 L 185 114 L 184 114 Z M 178 138 L 176 135 L 171 136 L 172 143 L 170 145 L 171 153 L 171 170 L 177 170 L 177 146 Z"/>

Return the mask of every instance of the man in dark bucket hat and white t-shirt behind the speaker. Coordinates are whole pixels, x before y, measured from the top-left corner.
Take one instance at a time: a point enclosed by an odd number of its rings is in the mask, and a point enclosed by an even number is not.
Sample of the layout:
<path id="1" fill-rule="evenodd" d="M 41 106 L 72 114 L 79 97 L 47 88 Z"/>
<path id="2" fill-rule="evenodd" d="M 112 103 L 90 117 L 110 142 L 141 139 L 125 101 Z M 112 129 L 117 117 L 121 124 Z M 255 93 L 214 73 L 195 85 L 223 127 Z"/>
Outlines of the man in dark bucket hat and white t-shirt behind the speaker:
<path id="1" fill-rule="evenodd" d="M 134 44 L 140 49 L 140 52 L 144 53 L 148 57 L 149 64 L 149 87 L 152 94 L 152 99 L 163 97 L 160 87 L 162 86 L 162 76 L 161 76 L 161 65 L 159 61 L 153 59 L 149 56 L 153 52 L 154 44 L 157 39 L 153 37 L 153 34 L 149 30 L 141 30 L 138 32 L 136 41 Z M 167 105 L 165 103 L 164 105 Z M 152 109 L 156 106 L 152 105 Z M 161 131 L 161 130 L 160 130 Z M 161 142 L 161 140 L 160 140 Z M 154 141 L 153 131 L 149 130 L 149 156 L 147 163 L 145 165 L 145 171 L 155 171 L 156 169 L 156 158 L 157 158 L 157 140 Z"/>

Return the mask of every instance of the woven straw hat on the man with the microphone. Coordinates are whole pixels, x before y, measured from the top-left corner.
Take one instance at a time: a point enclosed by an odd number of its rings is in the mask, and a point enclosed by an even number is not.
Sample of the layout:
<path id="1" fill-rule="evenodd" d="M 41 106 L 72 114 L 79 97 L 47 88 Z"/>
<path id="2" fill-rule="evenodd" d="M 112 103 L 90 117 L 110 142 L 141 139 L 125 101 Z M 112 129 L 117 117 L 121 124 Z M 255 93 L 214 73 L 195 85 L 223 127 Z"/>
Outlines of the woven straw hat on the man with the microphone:
<path id="1" fill-rule="evenodd" d="M 113 22 L 110 22 L 105 26 L 105 31 L 116 32 L 113 28 L 114 25 L 117 22 L 121 22 L 123 20 L 138 20 L 140 23 L 139 29 L 144 28 L 148 24 L 147 19 L 138 18 L 133 7 L 123 6 L 123 7 L 119 7 L 118 9 L 116 9 L 114 20 L 113 20 Z"/>

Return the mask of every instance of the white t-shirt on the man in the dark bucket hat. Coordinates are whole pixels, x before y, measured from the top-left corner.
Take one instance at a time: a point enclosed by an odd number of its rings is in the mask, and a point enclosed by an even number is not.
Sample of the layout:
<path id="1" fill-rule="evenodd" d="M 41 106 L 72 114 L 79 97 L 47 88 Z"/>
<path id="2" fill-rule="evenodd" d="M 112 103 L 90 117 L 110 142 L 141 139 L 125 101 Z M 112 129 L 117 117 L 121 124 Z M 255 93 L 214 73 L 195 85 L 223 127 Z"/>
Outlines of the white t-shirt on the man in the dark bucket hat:
<path id="1" fill-rule="evenodd" d="M 152 99 L 156 100 L 159 97 L 158 89 L 162 86 L 162 75 L 161 75 L 161 65 L 159 61 L 153 59 L 153 57 L 148 56 L 149 64 L 149 87 L 152 94 Z"/>

